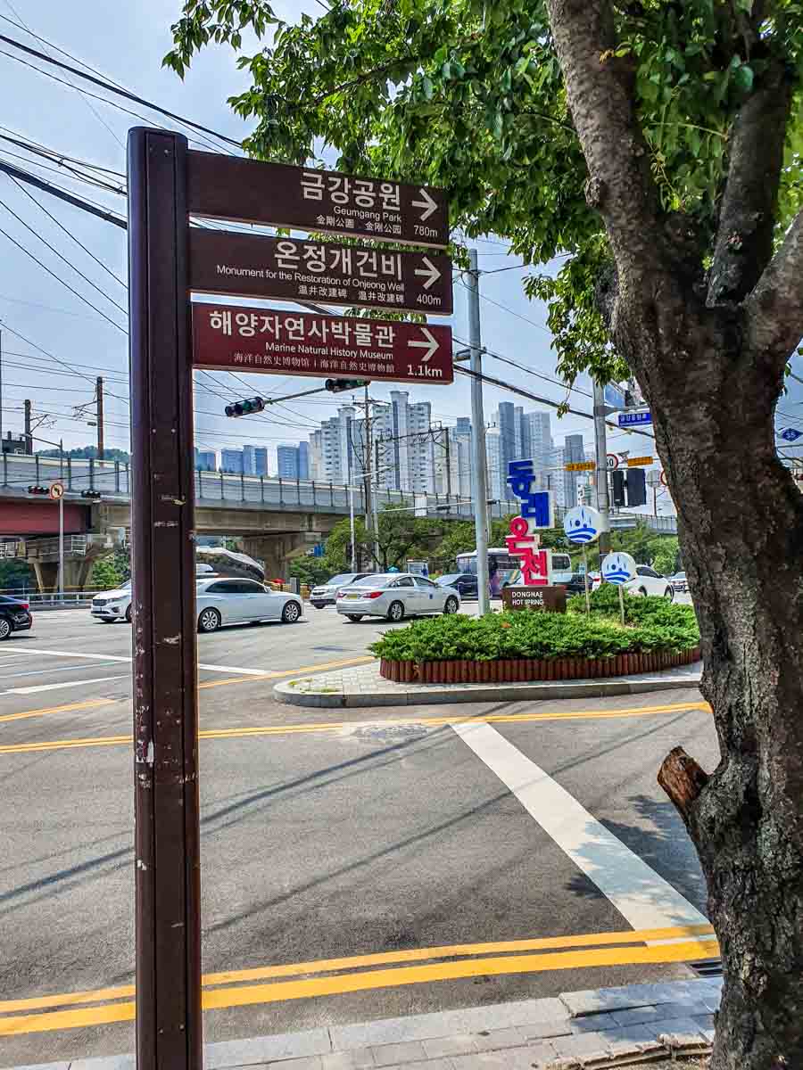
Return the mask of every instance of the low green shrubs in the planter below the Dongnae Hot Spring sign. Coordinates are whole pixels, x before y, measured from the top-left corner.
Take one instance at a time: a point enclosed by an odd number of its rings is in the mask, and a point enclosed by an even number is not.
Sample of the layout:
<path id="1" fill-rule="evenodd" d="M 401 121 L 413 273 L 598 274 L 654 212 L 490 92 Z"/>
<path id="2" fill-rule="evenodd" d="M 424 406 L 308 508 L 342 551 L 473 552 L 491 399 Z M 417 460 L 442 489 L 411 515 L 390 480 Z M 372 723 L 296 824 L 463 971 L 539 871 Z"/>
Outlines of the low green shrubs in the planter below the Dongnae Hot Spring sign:
<path id="1" fill-rule="evenodd" d="M 636 599 L 632 599 L 636 601 Z M 661 599 L 639 599 L 639 601 Z M 585 606 L 585 598 L 582 599 Z M 668 610 L 688 610 L 672 607 Z M 618 610 L 618 600 L 617 600 Z M 608 658 L 624 653 L 664 651 L 680 654 L 699 642 L 692 612 L 667 617 L 648 613 L 621 626 L 596 610 L 591 615 L 514 612 L 471 617 L 463 614 L 428 617 L 385 632 L 373 643 L 377 657 L 392 661 L 491 661 L 498 658 Z"/>

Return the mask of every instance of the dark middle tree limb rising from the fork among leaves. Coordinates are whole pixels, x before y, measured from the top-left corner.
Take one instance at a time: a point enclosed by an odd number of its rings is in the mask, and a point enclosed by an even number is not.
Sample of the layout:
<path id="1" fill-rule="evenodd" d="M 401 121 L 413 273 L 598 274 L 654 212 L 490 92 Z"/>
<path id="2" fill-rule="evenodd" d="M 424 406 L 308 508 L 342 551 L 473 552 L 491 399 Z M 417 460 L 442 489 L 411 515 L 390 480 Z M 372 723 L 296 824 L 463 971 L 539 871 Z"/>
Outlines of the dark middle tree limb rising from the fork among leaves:
<path id="1" fill-rule="evenodd" d="M 733 125 L 708 304 L 740 302 L 772 257 L 784 140 L 792 87 L 773 64 Z"/>

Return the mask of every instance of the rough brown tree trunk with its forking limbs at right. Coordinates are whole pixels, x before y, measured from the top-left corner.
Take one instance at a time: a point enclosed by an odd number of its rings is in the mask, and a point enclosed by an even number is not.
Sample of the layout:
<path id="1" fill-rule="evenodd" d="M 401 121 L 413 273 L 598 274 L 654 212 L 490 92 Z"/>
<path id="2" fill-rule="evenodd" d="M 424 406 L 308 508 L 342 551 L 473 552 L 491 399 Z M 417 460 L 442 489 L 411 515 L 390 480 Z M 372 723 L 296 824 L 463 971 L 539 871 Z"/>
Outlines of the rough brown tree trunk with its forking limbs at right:
<path id="1" fill-rule="evenodd" d="M 803 495 L 774 431 L 803 334 L 803 216 L 764 266 L 778 141 L 760 173 L 747 144 L 761 135 L 756 113 L 769 109 L 777 134 L 785 105 L 764 97 L 745 109 L 707 304 L 699 258 L 695 270 L 672 236 L 677 220 L 655 209 L 626 74 L 603 60 L 617 44 L 609 3 L 547 6 L 588 199 L 616 260 L 611 340 L 653 413 L 719 742 L 710 774 L 679 749 L 660 773 L 697 849 L 722 948 L 712 1070 L 803 1068 Z M 761 175 L 775 188 L 763 190 Z M 758 204 L 755 263 L 734 258 L 727 232 L 747 196 Z"/>

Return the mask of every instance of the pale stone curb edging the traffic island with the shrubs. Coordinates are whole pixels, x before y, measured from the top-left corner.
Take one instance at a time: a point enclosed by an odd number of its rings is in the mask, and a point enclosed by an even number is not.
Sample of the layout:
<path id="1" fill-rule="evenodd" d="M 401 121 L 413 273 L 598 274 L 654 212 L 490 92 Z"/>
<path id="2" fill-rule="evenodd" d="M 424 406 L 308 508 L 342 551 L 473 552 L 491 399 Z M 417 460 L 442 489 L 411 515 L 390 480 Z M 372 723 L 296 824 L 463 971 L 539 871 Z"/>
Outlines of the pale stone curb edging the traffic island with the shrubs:
<path id="1" fill-rule="evenodd" d="M 301 684 L 318 684 L 318 690 L 299 689 Z M 321 686 L 322 685 L 322 686 Z M 317 709 L 365 708 L 369 706 L 422 706 L 456 702 L 519 702 L 525 700 L 603 699 L 618 694 L 647 694 L 651 691 L 670 691 L 678 688 L 700 686 L 700 674 L 656 677 L 654 679 L 573 681 L 558 684 L 475 684 L 460 688 L 437 684 L 411 686 L 396 685 L 394 690 L 358 691 L 342 685 L 328 686 L 320 676 L 301 677 L 276 684 L 273 694 L 277 702 L 288 706 L 307 706 Z"/>

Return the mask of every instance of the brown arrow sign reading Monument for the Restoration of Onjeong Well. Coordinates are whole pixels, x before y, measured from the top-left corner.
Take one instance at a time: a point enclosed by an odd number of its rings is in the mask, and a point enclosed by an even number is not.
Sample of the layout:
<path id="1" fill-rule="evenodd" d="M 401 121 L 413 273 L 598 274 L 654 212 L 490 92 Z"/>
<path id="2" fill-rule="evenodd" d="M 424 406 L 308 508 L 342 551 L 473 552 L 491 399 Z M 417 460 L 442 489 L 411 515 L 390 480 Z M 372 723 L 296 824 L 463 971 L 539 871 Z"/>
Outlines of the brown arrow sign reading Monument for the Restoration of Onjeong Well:
<path id="1" fill-rule="evenodd" d="M 452 262 L 437 253 L 264 238 L 194 227 L 190 286 L 202 293 L 452 311 Z"/>

